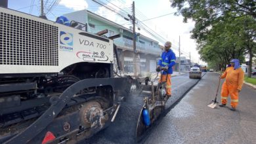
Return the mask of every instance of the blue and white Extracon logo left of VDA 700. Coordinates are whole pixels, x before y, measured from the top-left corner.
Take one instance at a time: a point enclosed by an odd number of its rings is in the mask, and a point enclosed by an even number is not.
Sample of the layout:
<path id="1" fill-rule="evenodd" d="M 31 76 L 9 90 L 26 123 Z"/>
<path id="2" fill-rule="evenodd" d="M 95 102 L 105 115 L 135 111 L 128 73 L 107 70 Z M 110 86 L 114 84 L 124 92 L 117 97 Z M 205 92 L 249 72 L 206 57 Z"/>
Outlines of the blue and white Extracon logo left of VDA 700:
<path id="1" fill-rule="evenodd" d="M 60 50 L 73 51 L 73 34 L 60 31 Z"/>

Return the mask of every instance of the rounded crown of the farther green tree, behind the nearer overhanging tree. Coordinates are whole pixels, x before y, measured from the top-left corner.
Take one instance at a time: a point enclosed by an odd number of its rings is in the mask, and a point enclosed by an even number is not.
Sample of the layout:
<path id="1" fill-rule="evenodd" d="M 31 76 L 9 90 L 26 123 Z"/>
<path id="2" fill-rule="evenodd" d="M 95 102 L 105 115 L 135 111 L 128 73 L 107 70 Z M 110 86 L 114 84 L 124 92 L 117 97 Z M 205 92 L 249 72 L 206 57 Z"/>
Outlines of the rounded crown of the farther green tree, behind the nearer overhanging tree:
<path id="1" fill-rule="evenodd" d="M 215 69 L 226 67 L 232 58 L 244 62 L 246 47 L 242 39 L 244 29 L 239 25 L 241 21 L 226 21 L 213 25 L 205 41 L 200 41 L 198 45 L 202 60 L 211 63 Z"/>

